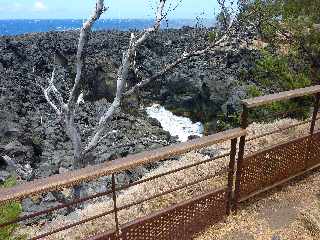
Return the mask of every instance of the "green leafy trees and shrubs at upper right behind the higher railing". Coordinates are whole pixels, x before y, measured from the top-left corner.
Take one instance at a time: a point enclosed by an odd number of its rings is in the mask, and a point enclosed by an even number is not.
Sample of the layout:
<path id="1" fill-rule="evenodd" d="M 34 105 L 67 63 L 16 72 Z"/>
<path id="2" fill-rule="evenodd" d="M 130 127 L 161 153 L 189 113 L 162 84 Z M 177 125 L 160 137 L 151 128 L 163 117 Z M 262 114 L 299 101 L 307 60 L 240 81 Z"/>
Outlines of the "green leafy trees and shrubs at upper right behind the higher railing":
<path id="1" fill-rule="evenodd" d="M 240 17 L 255 26 L 262 42 L 260 58 L 242 78 L 254 80 L 247 95 L 302 88 L 320 81 L 320 1 L 251 0 L 240 3 Z M 312 98 L 273 103 L 252 111 L 252 120 L 273 120 L 278 112 L 304 119 Z M 281 115 L 279 115 L 281 116 Z"/>

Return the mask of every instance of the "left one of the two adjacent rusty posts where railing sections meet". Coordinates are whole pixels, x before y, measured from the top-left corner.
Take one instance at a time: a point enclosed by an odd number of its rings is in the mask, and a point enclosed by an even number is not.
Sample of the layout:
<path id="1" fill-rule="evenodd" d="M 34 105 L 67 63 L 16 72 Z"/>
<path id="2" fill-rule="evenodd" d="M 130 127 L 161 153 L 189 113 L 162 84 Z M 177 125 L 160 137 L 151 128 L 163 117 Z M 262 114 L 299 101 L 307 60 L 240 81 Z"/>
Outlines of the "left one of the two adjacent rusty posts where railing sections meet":
<path id="1" fill-rule="evenodd" d="M 233 190 L 234 190 L 234 173 L 235 173 L 235 162 L 237 154 L 237 143 L 238 139 L 231 139 L 231 151 L 228 171 L 228 199 L 227 199 L 227 215 L 230 215 L 232 202 L 233 202 Z"/>

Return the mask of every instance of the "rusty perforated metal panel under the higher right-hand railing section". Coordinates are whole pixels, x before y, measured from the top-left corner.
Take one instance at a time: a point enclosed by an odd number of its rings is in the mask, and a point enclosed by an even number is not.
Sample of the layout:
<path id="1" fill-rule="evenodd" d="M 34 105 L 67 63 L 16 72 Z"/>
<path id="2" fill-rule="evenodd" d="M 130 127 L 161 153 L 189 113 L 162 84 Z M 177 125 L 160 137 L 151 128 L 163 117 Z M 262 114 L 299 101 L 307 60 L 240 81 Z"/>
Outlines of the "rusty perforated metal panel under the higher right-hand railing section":
<path id="1" fill-rule="evenodd" d="M 257 152 L 239 166 L 238 200 L 320 163 L 320 133 Z"/>

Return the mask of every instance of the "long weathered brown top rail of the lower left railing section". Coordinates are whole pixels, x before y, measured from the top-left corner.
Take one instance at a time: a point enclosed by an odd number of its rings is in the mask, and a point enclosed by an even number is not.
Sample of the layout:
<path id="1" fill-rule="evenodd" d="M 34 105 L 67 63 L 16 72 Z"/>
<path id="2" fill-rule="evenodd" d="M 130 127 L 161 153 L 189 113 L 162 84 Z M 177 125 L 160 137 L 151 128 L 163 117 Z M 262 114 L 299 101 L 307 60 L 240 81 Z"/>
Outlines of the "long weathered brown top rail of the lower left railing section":
<path id="1" fill-rule="evenodd" d="M 96 180 L 99 177 L 112 175 L 114 173 L 129 170 L 147 163 L 152 163 L 167 158 L 181 155 L 189 151 L 208 147 L 230 139 L 244 136 L 246 130 L 237 128 L 214 135 L 190 140 L 168 147 L 163 147 L 148 152 L 130 155 L 111 162 L 105 162 L 95 166 L 88 166 L 83 169 L 57 174 L 45 179 L 37 179 L 32 182 L 17 185 L 8 189 L 0 190 L 0 204 L 5 202 L 23 199 L 32 195 L 56 191 L 65 187 L 72 187 L 82 182 Z"/>

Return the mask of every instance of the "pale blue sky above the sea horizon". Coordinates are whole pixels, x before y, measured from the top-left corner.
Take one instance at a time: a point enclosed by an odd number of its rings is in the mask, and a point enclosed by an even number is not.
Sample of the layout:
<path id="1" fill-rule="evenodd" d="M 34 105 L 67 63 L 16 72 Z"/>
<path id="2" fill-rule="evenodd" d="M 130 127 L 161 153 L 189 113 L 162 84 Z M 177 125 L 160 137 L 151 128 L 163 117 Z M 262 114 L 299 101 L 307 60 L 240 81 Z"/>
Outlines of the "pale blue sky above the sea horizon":
<path id="1" fill-rule="evenodd" d="M 167 0 L 176 5 L 178 0 Z M 157 0 L 105 0 L 109 10 L 103 18 L 153 18 Z M 95 0 L 0 0 L 0 19 L 86 18 Z M 212 18 L 216 0 L 182 0 L 170 18 Z"/>

